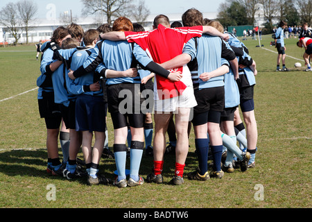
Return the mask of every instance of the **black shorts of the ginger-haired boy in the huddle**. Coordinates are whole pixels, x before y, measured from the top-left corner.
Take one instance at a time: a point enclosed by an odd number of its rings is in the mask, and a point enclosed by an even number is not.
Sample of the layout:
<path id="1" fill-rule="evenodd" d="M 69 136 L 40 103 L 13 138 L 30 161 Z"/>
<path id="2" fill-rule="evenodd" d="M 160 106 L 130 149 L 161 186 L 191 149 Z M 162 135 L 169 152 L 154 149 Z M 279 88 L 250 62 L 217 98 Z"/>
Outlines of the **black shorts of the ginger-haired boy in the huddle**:
<path id="1" fill-rule="evenodd" d="M 133 128 L 144 126 L 144 113 L 141 112 L 140 84 L 121 83 L 107 87 L 108 112 L 112 116 L 114 129 L 127 126 L 127 119 Z"/>

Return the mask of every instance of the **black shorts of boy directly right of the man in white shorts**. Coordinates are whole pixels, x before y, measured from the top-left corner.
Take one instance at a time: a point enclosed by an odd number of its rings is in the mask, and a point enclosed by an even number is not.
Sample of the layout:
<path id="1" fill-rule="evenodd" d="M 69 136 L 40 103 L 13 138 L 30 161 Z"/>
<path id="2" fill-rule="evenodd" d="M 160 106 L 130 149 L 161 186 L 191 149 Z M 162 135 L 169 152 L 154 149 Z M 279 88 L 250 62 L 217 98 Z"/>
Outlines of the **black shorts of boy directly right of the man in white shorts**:
<path id="1" fill-rule="evenodd" d="M 197 101 L 194 115 L 209 110 L 222 112 L 224 109 L 224 87 L 212 87 L 195 91 Z"/>

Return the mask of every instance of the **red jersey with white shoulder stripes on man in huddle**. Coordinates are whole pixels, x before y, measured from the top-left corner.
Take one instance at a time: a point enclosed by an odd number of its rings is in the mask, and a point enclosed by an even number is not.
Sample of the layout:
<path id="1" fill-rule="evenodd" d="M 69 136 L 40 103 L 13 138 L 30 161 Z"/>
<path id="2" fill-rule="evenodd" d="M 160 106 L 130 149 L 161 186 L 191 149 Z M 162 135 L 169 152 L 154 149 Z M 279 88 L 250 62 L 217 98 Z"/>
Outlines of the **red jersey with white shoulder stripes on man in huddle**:
<path id="1" fill-rule="evenodd" d="M 185 43 L 187 43 L 192 37 L 201 36 L 202 26 L 166 28 L 159 24 L 158 28 L 153 31 L 139 33 L 125 32 L 125 37 L 128 42 L 139 44 L 139 46 L 148 53 L 148 56 L 150 56 L 154 62 L 159 64 L 180 55 Z M 179 67 L 174 71 L 181 71 L 183 74 L 182 67 Z M 168 90 L 171 92 L 169 94 L 159 94 L 158 99 L 168 99 L 179 96 L 187 87 L 187 85 L 183 83 L 183 80 L 172 82 L 162 76 L 155 76 L 155 83 L 157 90 Z"/>

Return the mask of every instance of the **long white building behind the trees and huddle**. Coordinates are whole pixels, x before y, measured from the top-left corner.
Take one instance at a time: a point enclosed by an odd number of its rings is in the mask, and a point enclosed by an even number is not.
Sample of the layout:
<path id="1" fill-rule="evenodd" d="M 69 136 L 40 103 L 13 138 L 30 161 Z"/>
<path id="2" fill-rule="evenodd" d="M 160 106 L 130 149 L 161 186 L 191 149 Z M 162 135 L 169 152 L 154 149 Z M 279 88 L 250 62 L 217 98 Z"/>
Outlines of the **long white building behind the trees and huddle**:
<path id="1" fill-rule="evenodd" d="M 203 12 L 202 13 L 205 18 L 209 19 L 216 19 L 217 12 Z M 156 15 L 150 15 L 146 19 L 146 31 L 149 31 L 153 28 L 153 21 Z M 167 15 L 170 22 L 182 22 L 182 14 L 170 14 Z M 103 19 L 105 21 L 105 19 Z M 135 22 L 132 20 L 132 22 Z M 97 28 L 99 25 L 98 22 L 96 22 L 95 17 L 79 17 L 76 24 L 79 24 L 83 27 L 84 30 L 88 30 L 89 28 Z M 105 22 L 104 22 L 105 23 Z M 28 31 L 28 42 L 39 42 L 40 40 L 50 40 L 51 35 L 55 28 L 58 28 L 58 26 L 64 26 L 60 22 L 60 19 L 36 19 L 35 22 L 31 25 L 30 30 Z M 8 42 L 8 44 L 12 44 L 15 42 L 15 38 L 8 32 L 3 33 L 3 31 L 6 31 L 5 27 L 0 26 L 0 42 Z M 26 33 L 23 31 L 21 33 L 21 37 L 19 39 L 19 43 L 25 43 L 26 42 Z"/>

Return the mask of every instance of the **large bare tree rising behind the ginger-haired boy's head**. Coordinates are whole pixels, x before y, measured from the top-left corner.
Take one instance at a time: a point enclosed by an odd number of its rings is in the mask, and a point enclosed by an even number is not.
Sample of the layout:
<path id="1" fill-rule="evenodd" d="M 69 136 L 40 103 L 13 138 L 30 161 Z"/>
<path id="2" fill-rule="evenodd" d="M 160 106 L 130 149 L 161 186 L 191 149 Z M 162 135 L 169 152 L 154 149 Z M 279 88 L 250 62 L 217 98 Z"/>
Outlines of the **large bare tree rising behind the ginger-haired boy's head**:
<path id="1" fill-rule="evenodd" d="M 131 0 L 81 0 L 83 2 L 83 13 L 94 15 L 97 12 L 103 13 L 107 18 L 107 23 L 112 24 L 112 19 L 120 15 L 129 16 Z"/>

